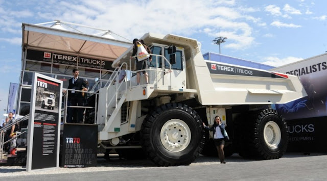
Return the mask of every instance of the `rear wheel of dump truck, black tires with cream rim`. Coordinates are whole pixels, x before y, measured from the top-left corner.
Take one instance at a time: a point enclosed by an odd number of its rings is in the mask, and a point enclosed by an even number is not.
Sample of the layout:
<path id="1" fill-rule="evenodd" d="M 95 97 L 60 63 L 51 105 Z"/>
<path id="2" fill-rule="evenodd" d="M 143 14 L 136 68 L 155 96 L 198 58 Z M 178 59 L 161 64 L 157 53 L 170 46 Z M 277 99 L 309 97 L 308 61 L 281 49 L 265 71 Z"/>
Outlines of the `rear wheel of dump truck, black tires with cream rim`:
<path id="1" fill-rule="evenodd" d="M 264 160 L 283 156 L 288 144 L 287 125 L 275 110 L 252 112 L 241 121 L 237 129 L 240 156 Z"/>

